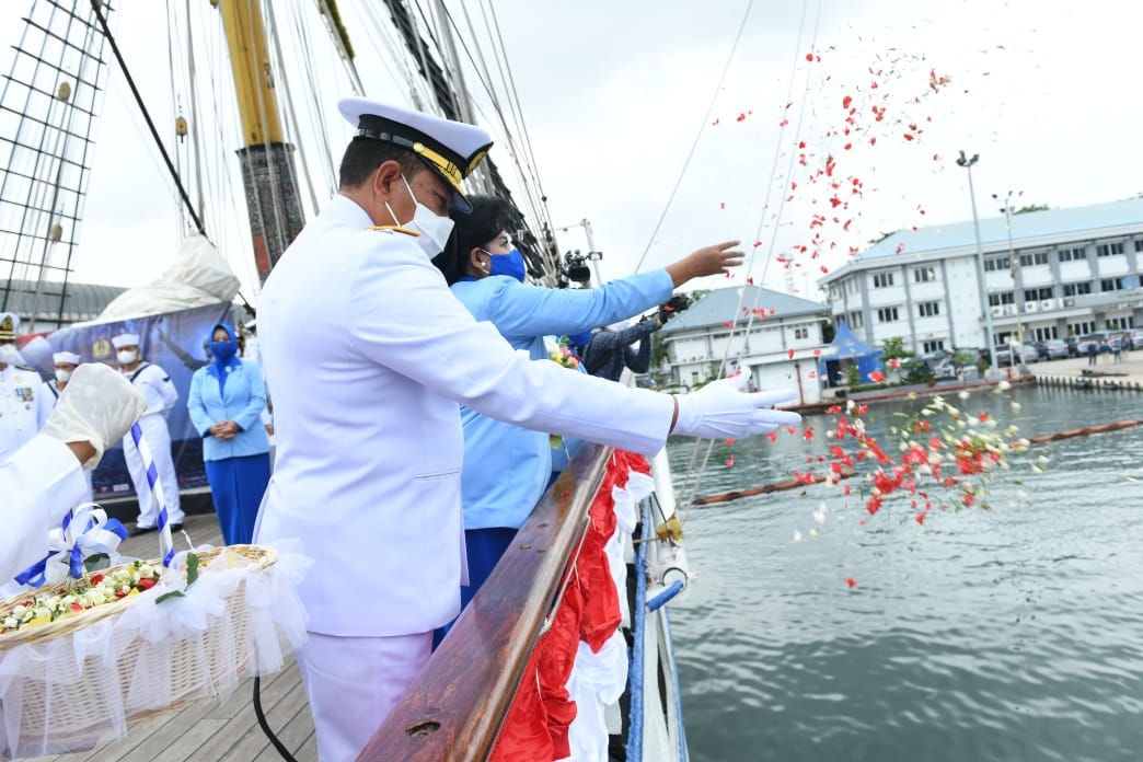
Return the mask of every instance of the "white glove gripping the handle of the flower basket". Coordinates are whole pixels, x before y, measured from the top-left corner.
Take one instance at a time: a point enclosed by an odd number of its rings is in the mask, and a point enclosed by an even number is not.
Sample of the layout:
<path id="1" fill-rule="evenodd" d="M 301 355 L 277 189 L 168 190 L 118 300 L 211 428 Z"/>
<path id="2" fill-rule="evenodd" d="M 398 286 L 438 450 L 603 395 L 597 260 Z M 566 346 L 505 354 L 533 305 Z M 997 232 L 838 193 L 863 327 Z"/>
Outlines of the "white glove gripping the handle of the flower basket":
<path id="1" fill-rule="evenodd" d="M 122 374 L 99 362 L 87 362 L 72 374 L 40 433 L 64 444 L 89 442 L 95 457 L 83 464 L 83 470 L 90 471 L 144 410 L 146 401 Z"/>

